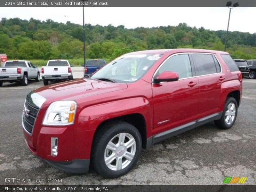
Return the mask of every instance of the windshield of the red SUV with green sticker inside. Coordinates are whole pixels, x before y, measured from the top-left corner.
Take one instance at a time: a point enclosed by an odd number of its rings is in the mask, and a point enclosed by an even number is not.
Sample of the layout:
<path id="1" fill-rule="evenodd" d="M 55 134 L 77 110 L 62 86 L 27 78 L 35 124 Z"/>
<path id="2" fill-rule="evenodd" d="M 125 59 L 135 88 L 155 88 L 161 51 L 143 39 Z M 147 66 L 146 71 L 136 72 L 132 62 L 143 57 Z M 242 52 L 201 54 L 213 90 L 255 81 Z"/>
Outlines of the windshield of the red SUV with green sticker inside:
<path id="1" fill-rule="evenodd" d="M 117 83 L 134 82 L 140 79 L 161 56 L 159 54 L 123 55 L 88 78 Z"/>

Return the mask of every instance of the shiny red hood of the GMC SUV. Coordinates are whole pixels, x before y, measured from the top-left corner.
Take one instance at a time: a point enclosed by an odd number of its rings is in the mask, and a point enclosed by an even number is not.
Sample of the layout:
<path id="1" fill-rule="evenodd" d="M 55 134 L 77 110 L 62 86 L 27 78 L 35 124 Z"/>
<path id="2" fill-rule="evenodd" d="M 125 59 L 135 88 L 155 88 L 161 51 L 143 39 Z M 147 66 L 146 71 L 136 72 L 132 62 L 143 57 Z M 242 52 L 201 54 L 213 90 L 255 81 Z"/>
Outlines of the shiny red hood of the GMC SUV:
<path id="1" fill-rule="evenodd" d="M 28 93 L 27 100 L 34 105 L 34 107 L 46 109 L 53 101 L 85 99 L 126 88 L 127 84 L 82 78 L 35 89 Z"/>

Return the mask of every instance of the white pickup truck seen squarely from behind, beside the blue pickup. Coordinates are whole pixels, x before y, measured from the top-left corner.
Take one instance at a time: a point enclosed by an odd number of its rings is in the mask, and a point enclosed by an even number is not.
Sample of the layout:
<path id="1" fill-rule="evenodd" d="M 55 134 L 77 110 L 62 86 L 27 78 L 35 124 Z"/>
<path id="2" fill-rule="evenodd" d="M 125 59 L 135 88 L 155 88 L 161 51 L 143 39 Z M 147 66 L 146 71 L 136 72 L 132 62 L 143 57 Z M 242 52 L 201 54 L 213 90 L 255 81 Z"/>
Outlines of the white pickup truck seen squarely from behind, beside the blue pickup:
<path id="1" fill-rule="evenodd" d="M 49 81 L 54 80 L 72 80 L 71 67 L 68 60 L 49 60 L 47 65 L 42 67 L 44 85 L 48 85 Z"/>

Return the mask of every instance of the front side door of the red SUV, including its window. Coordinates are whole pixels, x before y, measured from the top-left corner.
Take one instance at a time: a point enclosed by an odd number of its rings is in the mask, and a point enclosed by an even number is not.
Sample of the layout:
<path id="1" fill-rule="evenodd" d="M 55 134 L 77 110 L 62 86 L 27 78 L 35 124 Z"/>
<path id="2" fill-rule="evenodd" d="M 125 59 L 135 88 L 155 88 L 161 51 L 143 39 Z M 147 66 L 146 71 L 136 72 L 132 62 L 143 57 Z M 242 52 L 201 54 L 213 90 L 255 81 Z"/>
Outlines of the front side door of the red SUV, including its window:
<path id="1" fill-rule="evenodd" d="M 152 84 L 154 134 L 188 123 L 190 127 L 196 125 L 199 89 L 190 60 L 186 53 L 172 55 L 156 71 L 155 76 L 164 71 L 177 72 L 179 80 Z"/>

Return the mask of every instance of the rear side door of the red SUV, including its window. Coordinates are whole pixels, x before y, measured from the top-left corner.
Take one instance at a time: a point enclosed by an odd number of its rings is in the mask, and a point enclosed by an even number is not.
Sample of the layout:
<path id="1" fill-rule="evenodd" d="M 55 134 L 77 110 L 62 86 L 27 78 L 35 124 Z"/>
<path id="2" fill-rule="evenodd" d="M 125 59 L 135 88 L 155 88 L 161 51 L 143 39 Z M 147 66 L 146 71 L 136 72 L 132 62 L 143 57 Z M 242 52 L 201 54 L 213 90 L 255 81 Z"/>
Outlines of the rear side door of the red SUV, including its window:
<path id="1" fill-rule="evenodd" d="M 198 119 L 220 111 L 220 88 L 225 79 L 214 54 L 193 53 L 196 76 L 199 81 Z"/>

